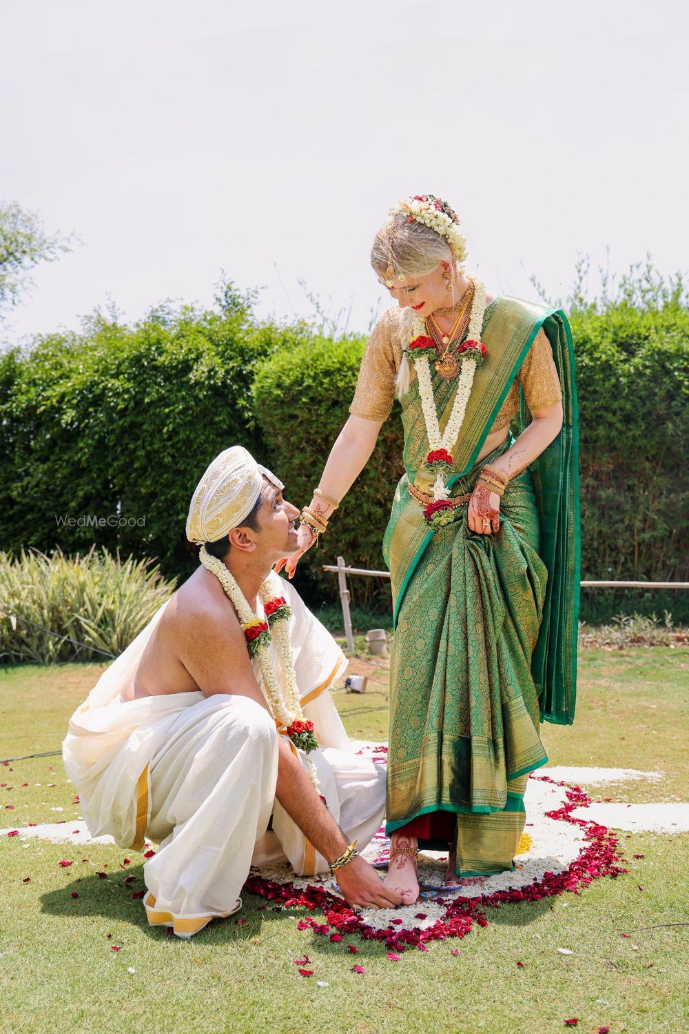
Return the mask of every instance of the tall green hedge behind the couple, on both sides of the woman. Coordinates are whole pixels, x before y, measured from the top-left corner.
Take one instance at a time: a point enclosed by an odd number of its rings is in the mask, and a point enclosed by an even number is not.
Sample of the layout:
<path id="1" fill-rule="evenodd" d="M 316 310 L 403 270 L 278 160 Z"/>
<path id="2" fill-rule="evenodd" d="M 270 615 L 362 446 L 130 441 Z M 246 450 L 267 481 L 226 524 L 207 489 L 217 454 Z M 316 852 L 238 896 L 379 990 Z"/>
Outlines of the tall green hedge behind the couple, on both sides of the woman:
<path id="1" fill-rule="evenodd" d="M 689 310 L 580 308 L 572 329 L 583 576 L 687 580 Z M 294 503 L 308 500 L 347 418 L 364 342 L 259 325 L 228 287 L 220 311 L 163 307 L 131 328 L 98 316 L 81 334 L 0 356 L 0 548 L 75 552 L 95 542 L 187 574 L 189 498 L 227 445 L 246 445 Z M 320 566 L 338 553 L 382 566 L 401 455 L 394 412 L 322 547 L 300 565 L 312 603 L 337 600 L 337 581 Z M 56 515 L 86 514 L 145 517 L 145 526 L 56 524 Z M 388 583 L 352 579 L 351 587 L 359 604 L 388 601 Z M 658 612 L 687 610 L 680 592 L 651 599 Z"/>

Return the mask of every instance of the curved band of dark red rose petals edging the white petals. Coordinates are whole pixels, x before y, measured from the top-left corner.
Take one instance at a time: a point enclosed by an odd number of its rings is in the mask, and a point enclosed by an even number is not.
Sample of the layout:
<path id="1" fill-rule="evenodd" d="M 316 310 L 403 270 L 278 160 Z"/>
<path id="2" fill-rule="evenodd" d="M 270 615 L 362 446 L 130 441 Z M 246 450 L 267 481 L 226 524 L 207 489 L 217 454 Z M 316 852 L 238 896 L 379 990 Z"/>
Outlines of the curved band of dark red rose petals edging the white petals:
<path id="1" fill-rule="evenodd" d="M 291 883 L 277 883 L 260 876 L 251 876 L 244 889 L 251 894 L 264 898 L 273 903 L 274 908 L 305 908 L 308 912 L 319 910 L 322 921 L 313 915 L 307 915 L 297 922 L 299 930 L 311 930 L 314 934 L 340 934 L 342 937 L 358 934 L 365 941 L 380 941 L 388 951 L 404 952 L 407 948 L 426 949 L 431 941 L 444 941 L 450 937 L 463 938 L 476 923 L 488 926 L 483 910 L 497 909 L 501 905 L 512 902 L 537 902 L 544 898 L 553 898 L 565 891 L 578 894 L 592 880 L 602 876 L 616 879 L 621 873 L 626 873 L 620 864 L 621 852 L 618 849 L 618 838 L 605 826 L 585 819 L 575 819 L 571 813 L 576 808 L 587 808 L 591 798 L 581 787 L 568 787 L 565 783 L 556 783 L 549 776 L 535 776 L 542 782 L 565 787 L 567 802 L 556 811 L 546 812 L 550 819 L 559 822 L 570 822 L 583 827 L 587 846 L 562 873 L 544 873 L 541 879 L 509 890 L 497 890 L 490 894 L 478 894 L 476 898 L 462 898 L 450 902 L 444 916 L 427 930 L 413 926 L 401 930 L 390 923 L 383 930 L 369 926 L 361 916 L 353 912 L 342 900 L 328 893 L 323 887 L 309 886 L 301 890 Z M 421 913 L 418 913 L 419 915 Z M 400 920 L 401 921 L 401 920 Z M 344 947 L 344 945 L 343 945 Z M 346 946 L 349 951 L 354 945 Z"/>

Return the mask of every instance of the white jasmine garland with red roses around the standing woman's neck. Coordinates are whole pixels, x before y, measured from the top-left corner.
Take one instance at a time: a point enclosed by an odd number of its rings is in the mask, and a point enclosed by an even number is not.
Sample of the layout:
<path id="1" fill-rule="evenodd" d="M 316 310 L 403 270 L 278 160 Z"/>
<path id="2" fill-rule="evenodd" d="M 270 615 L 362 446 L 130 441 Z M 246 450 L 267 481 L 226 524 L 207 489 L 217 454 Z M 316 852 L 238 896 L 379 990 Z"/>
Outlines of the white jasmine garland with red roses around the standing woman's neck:
<path id="1" fill-rule="evenodd" d="M 424 412 L 426 433 L 429 442 L 426 465 L 437 475 L 433 485 L 433 503 L 424 511 L 424 516 L 428 523 L 434 523 L 436 513 L 447 510 L 446 505 L 443 507 L 439 506 L 440 503 L 449 497 L 449 490 L 445 487 L 443 480 L 443 472 L 452 465 L 451 450 L 457 445 L 462 424 L 464 423 L 464 415 L 474 383 L 476 367 L 483 361 L 483 356 L 486 355 L 486 345 L 480 339 L 484 314 L 486 284 L 481 280 L 475 280 L 467 340 L 458 349 L 458 356 L 461 356 L 463 360 L 462 372 L 460 373 L 449 420 L 442 434 L 440 433 L 438 410 L 436 409 L 435 397 L 433 395 L 431 363 L 429 359 L 432 352 L 435 352 L 435 342 L 426 333 L 426 322 L 422 316 L 417 314 L 413 316 L 409 352 L 411 353 L 416 369 L 418 394 L 421 399 L 421 409 Z M 449 514 L 443 515 L 442 523 L 449 523 L 448 516 Z M 437 523 L 436 521 L 434 526 Z"/>

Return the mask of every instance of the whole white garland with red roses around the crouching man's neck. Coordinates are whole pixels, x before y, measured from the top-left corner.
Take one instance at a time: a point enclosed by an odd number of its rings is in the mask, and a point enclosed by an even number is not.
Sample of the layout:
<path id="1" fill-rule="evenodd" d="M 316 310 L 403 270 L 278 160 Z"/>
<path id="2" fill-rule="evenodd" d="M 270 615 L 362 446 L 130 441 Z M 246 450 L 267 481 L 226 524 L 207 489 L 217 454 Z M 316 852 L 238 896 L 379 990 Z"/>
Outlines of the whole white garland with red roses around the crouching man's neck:
<path id="1" fill-rule="evenodd" d="M 247 641 L 249 657 L 252 659 L 254 657 L 258 658 L 258 664 L 263 676 L 263 685 L 265 686 L 265 696 L 268 697 L 273 717 L 280 725 L 284 726 L 290 741 L 297 750 L 304 751 L 306 754 L 315 751 L 318 747 L 318 740 L 314 732 L 313 722 L 304 718 L 299 687 L 296 686 L 296 675 L 294 673 L 292 650 L 289 642 L 288 619 L 291 615 L 291 610 L 287 606 L 284 597 L 275 595 L 275 585 L 271 584 L 272 581 L 280 581 L 280 579 L 271 573 L 260 587 L 260 598 L 263 602 L 267 617 L 267 620 L 263 621 L 259 617 L 256 617 L 247 603 L 244 592 L 222 560 L 219 560 L 216 556 L 211 556 L 205 546 L 200 548 L 199 559 L 206 570 L 216 576 L 234 606 L 244 637 Z M 272 635 L 271 632 L 273 633 Z M 282 691 L 275 677 L 271 658 L 271 641 L 273 637 L 275 638 L 275 645 L 280 661 Z M 309 777 L 313 785 L 318 789 L 316 770 L 310 761 Z"/>

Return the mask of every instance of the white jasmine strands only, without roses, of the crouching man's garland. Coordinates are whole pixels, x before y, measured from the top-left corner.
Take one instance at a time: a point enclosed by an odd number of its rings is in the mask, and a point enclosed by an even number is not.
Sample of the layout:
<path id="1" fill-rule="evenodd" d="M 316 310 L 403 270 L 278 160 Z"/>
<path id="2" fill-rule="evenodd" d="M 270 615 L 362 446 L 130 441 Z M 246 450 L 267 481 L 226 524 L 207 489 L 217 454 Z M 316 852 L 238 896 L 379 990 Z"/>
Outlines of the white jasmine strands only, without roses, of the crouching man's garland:
<path id="1" fill-rule="evenodd" d="M 236 578 L 230 574 L 222 560 L 219 560 L 217 556 L 211 556 L 211 554 L 207 551 L 206 546 L 201 546 L 198 558 L 206 570 L 210 571 L 211 574 L 214 574 L 222 585 L 226 596 L 229 598 L 234 610 L 237 611 L 237 616 L 240 619 L 242 630 L 244 631 L 246 627 L 255 625 L 258 621 L 256 614 L 254 614 L 253 610 L 249 606 L 244 592 L 237 583 Z M 263 605 L 269 600 L 279 597 L 281 588 L 281 579 L 278 578 L 276 574 L 271 572 L 259 590 Z M 275 670 L 273 668 L 273 659 L 271 656 L 271 641 L 273 637 L 275 638 L 278 660 L 280 662 L 282 690 L 278 685 L 278 680 L 275 677 Z M 270 632 L 263 633 L 256 649 L 256 657 L 258 659 L 261 675 L 263 676 L 265 696 L 268 697 L 273 718 L 285 729 L 288 729 L 294 722 L 304 722 L 304 711 L 302 710 L 300 692 L 296 685 L 296 675 L 294 672 L 294 662 L 289 642 L 289 619 L 287 617 L 276 618 L 273 622 L 273 636 L 271 636 Z M 307 763 L 309 767 L 309 778 L 318 791 L 316 769 L 310 759 L 307 759 Z"/>

